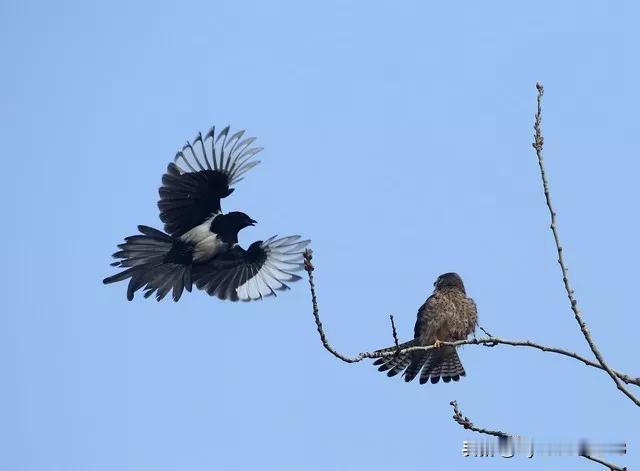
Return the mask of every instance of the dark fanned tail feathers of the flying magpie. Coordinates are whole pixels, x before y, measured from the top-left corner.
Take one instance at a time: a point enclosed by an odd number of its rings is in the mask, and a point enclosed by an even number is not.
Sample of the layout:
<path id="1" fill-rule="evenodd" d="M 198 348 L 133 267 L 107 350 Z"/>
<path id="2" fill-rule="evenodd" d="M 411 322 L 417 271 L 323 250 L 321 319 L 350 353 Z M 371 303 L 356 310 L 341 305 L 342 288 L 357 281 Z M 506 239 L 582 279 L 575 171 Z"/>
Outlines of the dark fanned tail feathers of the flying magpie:
<path id="1" fill-rule="evenodd" d="M 139 289 L 144 289 L 144 297 L 154 292 L 160 301 L 173 289 L 173 300 L 177 301 L 183 291 L 191 291 L 191 255 L 189 247 L 178 239 L 148 226 L 138 226 L 141 235 L 125 238 L 120 250 L 113 254 L 120 259 L 114 267 L 126 270 L 107 277 L 104 284 L 123 281 L 127 278 L 127 299 L 131 301 Z"/>

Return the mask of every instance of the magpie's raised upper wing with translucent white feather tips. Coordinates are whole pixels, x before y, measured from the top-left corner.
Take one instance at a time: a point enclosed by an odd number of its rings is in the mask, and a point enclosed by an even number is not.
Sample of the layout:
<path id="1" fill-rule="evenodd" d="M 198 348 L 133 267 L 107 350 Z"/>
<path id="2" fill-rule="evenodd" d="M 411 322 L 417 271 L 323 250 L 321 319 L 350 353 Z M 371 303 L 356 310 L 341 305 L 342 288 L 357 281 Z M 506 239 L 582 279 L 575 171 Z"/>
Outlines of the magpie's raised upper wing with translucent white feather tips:
<path id="1" fill-rule="evenodd" d="M 244 131 L 229 135 L 229 126 L 216 134 L 213 127 L 176 154 L 158 190 L 166 232 L 179 237 L 219 212 L 220 199 L 233 191 L 229 187 L 260 163 L 252 159 L 262 148 L 251 147 L 255 138 L 243 136 Z"/>

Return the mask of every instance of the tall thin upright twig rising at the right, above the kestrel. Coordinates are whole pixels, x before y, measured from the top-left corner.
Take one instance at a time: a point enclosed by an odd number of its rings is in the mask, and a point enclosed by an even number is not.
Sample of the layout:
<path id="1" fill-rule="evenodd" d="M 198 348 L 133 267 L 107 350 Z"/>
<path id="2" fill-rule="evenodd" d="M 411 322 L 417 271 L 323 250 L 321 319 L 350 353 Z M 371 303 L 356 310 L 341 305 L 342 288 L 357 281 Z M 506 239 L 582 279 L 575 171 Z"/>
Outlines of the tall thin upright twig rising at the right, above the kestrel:
<path id="1" fill-rule="evenodd" d="M 542 178 L 542 187 L 544 189 L 544 196 L 547 202 L 547 208 L 549 209 L 549 214 L 551 216 L 551 232 L 553 232 L 553 239 L 556 244 L 556 250 L 558 252 L 558 263 L 560 264 L 560 269 L 562 270 L 562 281 L 564 282 L 564 288 L 567 292 L 567 296 L 569 298 L 569 302 L 571 303 L 571 310 L 573 311 L 574 317 L 580 326 L 580 330 L 582 331 L 582 335 L 585 340 L 589 344 L 589 348 L 593 352 L 594 356 L 598 360 L 598 363 L 602 367 L 604 371 L 611 377 L 613 382 L 616 384 L 616 387 L 622 391 L 622 393 L 631 399 L 636 406 L 640 406 L 640 399 L 635 397 L 627 388 L 622 384 L 622 381 L 618 378 L 616 373 L 609 367 L 609 365 L 604 361 L 602 353 L 596 346 L 595 342 L 591 338 L 591 333 L 587 328 L 587 324 L 584 322 L 582 318 L 582 313 L 580 312 L 580 308 L 578 307 L 578 301 L 575 297 L 575 292 L 573 288 L 571 288 L 571 283 L 569 281 L 569 269 L 564 261 L 563 256 L 563 248 L 560 244 L 560 236 L 558 235 L 558 224 L 556 221 L 556 211 L 553 209 L 553 205 L 551 204 L 551 193 L 549 190 L 549 180 L 547 179 L 547 174 L 544 167 L 544 157 L 543 157 L 543 147 L 544 147 L 544 136 L 542 135 L 542 95 L 544 95 L 544 87 L 541 83 L 536 84 L 536 89 L 538 90 L 538 110 L 535 116 L 535 134 L 534 134 L 534 143 L 533 148 L 536 150 L 536 155 L 538 157 L 538 165 L 540 167 L 540 176 Z"/>

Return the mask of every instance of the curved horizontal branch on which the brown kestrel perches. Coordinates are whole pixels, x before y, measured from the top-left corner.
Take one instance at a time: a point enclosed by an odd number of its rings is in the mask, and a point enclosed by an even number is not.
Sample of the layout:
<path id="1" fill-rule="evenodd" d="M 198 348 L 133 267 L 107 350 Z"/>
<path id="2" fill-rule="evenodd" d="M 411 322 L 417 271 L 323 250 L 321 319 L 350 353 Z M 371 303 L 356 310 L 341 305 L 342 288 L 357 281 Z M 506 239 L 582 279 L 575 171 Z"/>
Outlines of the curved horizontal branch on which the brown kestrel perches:
<path id="1" fill-rule="evenodd" d="M 313 267 L 313 264 L 311 263 L 312 256 L 313 256 L 313 253 L 311 252 L 311 250 L 305 251 L 304 263 L 305 263 L 305 269 L 307 270 L 307 273 L 309 275 L 309 287 L 311 289 L 311 301 L 313 304 L 313 317 L 316 321 L 318 333 L 320 334 L 320 341 L 322 342 L 322 345 L 324 346 L 324 348 L 326 348 L 327 351 L 329 351 L 332 355 L 334 355 L 335 357 L 339 358 L 340 360 L 346 363 L 358 363 L 365 359 L 390 357 L 390 356 L 397 355 L 399 353 L 406 353 L 406 352 L 420 351 L 420 350 L 426 351 L 426 350 L 431 350 L 432 348 L 435 348 L 435 346 L 433 345 L 416 346 L 416 347 L 408 347 L 408 348 L 395 350 L 395 351 L 388 351 L 388 352 L 362 352 L 354 357 L 349 357 L 336 351 L 327 340 L 327 336 L 324 332 L 322 322 L 320 321 L 320 313 L 318 311 L 318 301 L 316 296 L 315 281 L 313 278 L 314 267 Z M 563 356 L 578 360 L 587 366 L 602 369 L 602 366 L 600 364 L 594 361 L 591 361 L 575 352 L 570 352 L 568 350 L 564 350 L 562 348 L 557 348 L 557 347 L 548 347 L 546 345 L 541 345 L 539 343 L 535 343 L 530 340 L 507 340 L 499 337 L 489 337 L 485 339 L 467 339 L 467 340 L 458 340 L 456 342 L 441 342 L 441 345 L 452 345 L 456 347 L 460 345 L 482 345 L 485 347 L 493 347 L 496 345 L 510 345 L 512 347 L 528 347 L 528 348 L 533 348 L 543 352 L 557 353 L 559 355 L 563 355 Z M 640 377 L 635 378 L 633 376 L 629 376 L 627 374 L 624 374 L 618 371 L 615 371 L 614 373 L 625 383 L 635 384 L 636 386 L 640 386 Z"/>

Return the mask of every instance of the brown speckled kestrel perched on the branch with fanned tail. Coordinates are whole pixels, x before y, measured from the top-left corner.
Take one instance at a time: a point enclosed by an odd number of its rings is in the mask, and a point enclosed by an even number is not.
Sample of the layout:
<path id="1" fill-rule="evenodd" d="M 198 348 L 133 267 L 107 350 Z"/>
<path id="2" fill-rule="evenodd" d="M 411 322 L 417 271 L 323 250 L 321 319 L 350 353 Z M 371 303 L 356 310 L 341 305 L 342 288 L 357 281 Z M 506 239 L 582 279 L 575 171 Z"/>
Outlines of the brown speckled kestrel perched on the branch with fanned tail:
<path id="1" fill-rule="evenodd" d="M 451 380 L 458 381 L 460 376 L 465 375 L 456 348 L 440 346 L 440 342 L 464 340 L 475 330 L 478 320 L 476 304 L 467 297 L 462 278 L 457 273 L 440 275 L 433 285 L 433 294 L 418 310 L 414 339 L 398 347 L 405 349 L 435 344 L 437 348 L 379 358 L 374 362 L 374 365 L 380 366 L 378 371 L 386 371 L 387 376 L 404 371 L 404 380 L 407 382 L 420 373 L 420 384 L 426 383 L 429 378 L 432 383 L 437 383 L 440 378 L 448 383 Z M 378 352 L 397 349 L 389 347 Z"/>

